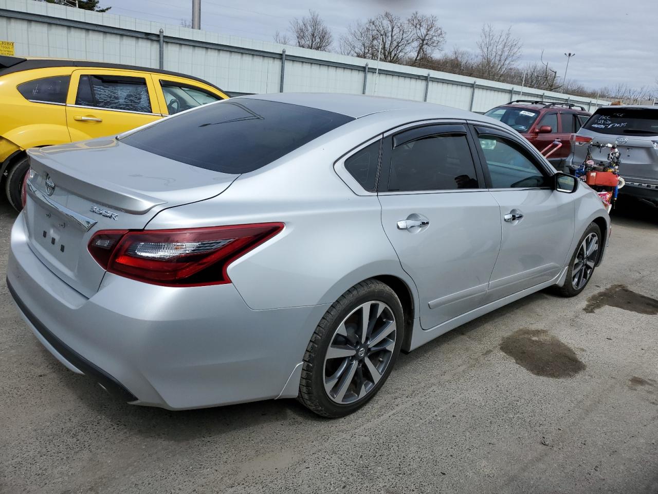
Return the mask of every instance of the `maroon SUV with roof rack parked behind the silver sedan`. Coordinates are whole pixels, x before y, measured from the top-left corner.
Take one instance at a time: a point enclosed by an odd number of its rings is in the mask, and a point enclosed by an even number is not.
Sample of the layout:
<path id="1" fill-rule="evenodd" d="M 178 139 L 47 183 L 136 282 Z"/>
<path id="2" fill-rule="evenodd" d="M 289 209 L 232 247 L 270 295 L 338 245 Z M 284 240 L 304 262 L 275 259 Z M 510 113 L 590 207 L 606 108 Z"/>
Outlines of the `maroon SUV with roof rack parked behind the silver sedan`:
<path id="1" fill-rule="evenodd" d="M 497 106 L 484 115 L 511 126 L 540 151 L 554 140 L 559 140 L 561 148 L 548 160 L 555 168 L 561 169 L 563 161 L 571 153 L 571 134 L 578 132 L 592 114 L 582 106 L 571 103 L 517 99 Z"/>

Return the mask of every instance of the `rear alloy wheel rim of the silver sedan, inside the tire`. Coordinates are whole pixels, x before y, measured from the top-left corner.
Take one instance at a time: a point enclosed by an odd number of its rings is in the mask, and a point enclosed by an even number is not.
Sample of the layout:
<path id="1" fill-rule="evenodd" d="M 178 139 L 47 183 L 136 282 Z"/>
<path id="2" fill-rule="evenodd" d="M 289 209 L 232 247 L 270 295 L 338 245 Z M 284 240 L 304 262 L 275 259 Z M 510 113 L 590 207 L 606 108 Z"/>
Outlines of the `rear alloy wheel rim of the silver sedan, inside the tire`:
<path id="1" fill-rule="evenodd" d="M 374 389 L 391 362 L 395 327 L 391 308 L 376 300 L 343 319 L 324 357 L 324 390 L 332 401 L 353 403 Z"/>

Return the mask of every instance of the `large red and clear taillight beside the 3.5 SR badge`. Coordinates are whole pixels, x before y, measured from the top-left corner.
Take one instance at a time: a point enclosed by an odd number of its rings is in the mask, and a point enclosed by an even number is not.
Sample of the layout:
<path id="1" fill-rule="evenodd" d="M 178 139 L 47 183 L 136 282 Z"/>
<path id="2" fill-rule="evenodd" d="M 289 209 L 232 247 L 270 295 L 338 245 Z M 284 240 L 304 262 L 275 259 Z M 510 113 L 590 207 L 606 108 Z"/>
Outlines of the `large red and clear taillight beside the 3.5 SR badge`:
<path id="1" fill-rule="evenodd" d="M 282 231 L 283 223 L 180 230 L 103 230 L 89 240 L 89 253 L 116 275 L 155 285 L 230 283 L 234 260 Z"/>

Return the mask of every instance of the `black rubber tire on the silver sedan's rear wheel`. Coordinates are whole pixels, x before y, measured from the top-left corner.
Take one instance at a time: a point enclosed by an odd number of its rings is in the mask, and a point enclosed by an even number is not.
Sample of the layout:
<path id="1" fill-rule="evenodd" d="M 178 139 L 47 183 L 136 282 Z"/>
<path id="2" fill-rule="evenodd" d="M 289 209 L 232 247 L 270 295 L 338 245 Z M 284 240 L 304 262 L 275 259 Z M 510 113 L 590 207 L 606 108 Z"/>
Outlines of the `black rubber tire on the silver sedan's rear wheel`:
<path id="1" fill-rule="evenodd" d="M 382 350 L 387 352 L 386 362 L 388 363 L 380 374 L 381 377 L 379 377 L 379 380 L 371 385 L 368 391 L 365 391 L 366 394 L 363 397 L 357 397 L 350 403 L 338 403 L 335 400 L 332 400 L 332 398 L 328 396 L 328 392 L 325 391 L 325 357 L 327 350 L 334 338 L 338 337 L 337 331 L 339 325 L 342 325 L 343 321 L 345 321 L 348 316 L 352 317 L 353 314 L 355 314 L 355 310 L 359 310 L 359 307 L 363 304 L 368 304 L 368 302 L 374 302 L 375 304 L 383 302 L 384 305 L 388 306 L 390 312 L 394 316 L 395 319 L 393 321 L 388 321 L 390 322 L 389 327 L 395 327 L 394 346 L 392 342 L 389 343 L 390 346 L 393 346 L 393 350 Z M 374 310 L 374 312 L 376 311 L 377 309 Z M 370 312 L 370 314 L 373 314 L 373 312 Z M 384 312 L 382 312 L 382 314 L 384 314 Z M 388 314 L 388 312 L 386 312 L 386 314 Z M 382 319 L 382 321 L 384 320 L 385 319 Z M 380 321 L 380 319 L 376 319 L 375 323 L 378 323 L 377 321 Z M 345 327 L 347 327 L 347 325 L 348 324 L 345 323 Z M 326 314 L 324 314 L 324 317 L 322 317 L 322 320 L 311 337 L 311 341 L 309 341 L 304 354 L 301 381 L 299 383 L 299 397 L 297 399 L 307 408 L 323 417 L 343 417 L 361 408 L 361 406 L 365 405 L 370 398 L 376 395 L 382 385 L 384 385 L 384 382 L 386 382 L 386 379 L 388 379 L 402 346 L 404 326 L 403 310 L 399 298 L 397 298 L 397 295 L 392 288 L 385 283 L 375 279 L 368 279 L 347 290 L 347 292 L 334 302 L 334 304 L 327 310 Z M 368 325 L 368 327 L 370 327 L 370 325 Z M 383 324 L 382 327 L 384 327 Z M 374 339 L 374 337 L 376 337 L 374 334 L 376 333 L 374 327 L 372 327 L 371 331 L 372 335 L 370 336 Z M 388 341 L 388 339 L 386 341 Z M 370 352 L 370 350 L 372 350 L 372 348 L 367 348 L 367 352 Z M 370 355 L 376 357 L 378 354 L 367 353 L 365 354 L 365 358 L 370 358 Z M 361 356 L 362 360 L 363 358 L 364 357 Z M 336 360 L 338 360 L 338 358 Z M 362 379 L 361 384 L 363 384 L 364 375 L 372 375 L 372 373 L 367 370 L 368 366 L 365 365 L 365 361 L 359 361 L 357 355 L 353 357 L 345 357 L 345 360 L 353 362 L 354 365 L 359 368 L 361 368 L 363 364 L 363 370 L 359 371 Z M 379 362 L 382 362 L 382 360 L 379 360 Z M 349 365 L 351 366 L 352 364 Z M 372 360 L 370 360 L 370 365 L 372 365 Z M 363 374 L 364 371 L 366 374 Z M 351 387 L 353 381 L 351 380 L 352 378 L 349 379 L 350 381 L 348 385 Z M 355 379 L 358 378 L 355 377 Z M 374 381 L 374 379 L 372 379 L 372 381 Z M 340 385 L 340 383 L 338 383 L 338 385 Z M 365 389 L 365 385 L 363 386 Z"/>

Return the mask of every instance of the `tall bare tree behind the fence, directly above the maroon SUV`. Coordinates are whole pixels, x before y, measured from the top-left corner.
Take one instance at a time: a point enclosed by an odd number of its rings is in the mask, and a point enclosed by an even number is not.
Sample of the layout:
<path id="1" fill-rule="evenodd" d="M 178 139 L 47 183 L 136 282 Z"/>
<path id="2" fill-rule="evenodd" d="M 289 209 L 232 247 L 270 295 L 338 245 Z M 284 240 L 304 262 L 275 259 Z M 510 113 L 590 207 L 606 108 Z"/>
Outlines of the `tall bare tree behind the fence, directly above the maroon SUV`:
<path id="1" fill-rule="evenodd" d="M 495 30 L 484 24 L 478 41 L 480 70 L 490 80 L 502 80 L 521 55 L 521 41 L 512 36 L 511 28 Z"/>

